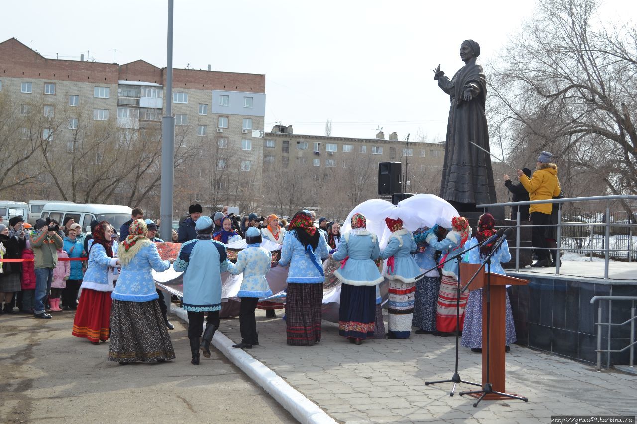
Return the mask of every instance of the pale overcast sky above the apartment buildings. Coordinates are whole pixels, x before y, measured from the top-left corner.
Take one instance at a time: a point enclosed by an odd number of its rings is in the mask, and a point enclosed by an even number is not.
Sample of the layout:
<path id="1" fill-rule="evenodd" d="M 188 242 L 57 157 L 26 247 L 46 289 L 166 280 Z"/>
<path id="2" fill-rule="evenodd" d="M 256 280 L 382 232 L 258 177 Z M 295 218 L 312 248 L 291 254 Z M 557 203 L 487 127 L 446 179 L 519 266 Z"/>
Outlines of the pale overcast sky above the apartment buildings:
<path id="1" fill-rule="evenodd" d="M 56 4 L 55 8 L 52 4 Z M 15 37 L 47 57 L 166 66 L 167 0 L 3 2 L 0 41 Z M 605 13 L 632 16 L 633 2 Z M 175 0 L 174 67 L 266 74 L 266 131 L 444 139 L 448 96 L 433 79 L 462 66 L 462 40 L 488 63 L 533 15 L 535 1 Z M 630 8 L 630 13 L 625 8 Z M 489 78 L 489 69 L 485 69 Z"/>

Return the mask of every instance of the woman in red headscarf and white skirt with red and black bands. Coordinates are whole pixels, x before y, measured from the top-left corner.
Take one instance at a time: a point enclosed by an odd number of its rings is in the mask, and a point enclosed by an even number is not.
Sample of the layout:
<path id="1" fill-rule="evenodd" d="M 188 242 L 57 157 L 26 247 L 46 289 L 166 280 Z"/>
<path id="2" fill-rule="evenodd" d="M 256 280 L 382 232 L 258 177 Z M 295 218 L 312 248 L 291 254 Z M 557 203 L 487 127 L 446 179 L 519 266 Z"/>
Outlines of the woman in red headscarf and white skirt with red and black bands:
<path id="1" fill-rule="evenodd" d="M 387 259 L 385 277 L 389 279 L 389 339 L 408 339 L 412 331 L 413 301 L 416 292 L 416 277 L 420 268 L 413 260 L 416 242 L 413 234 L 403 229 L 403 220 L 385 218 L 387 228 L 392 230 L 387 247 L 380 257 Z"/>

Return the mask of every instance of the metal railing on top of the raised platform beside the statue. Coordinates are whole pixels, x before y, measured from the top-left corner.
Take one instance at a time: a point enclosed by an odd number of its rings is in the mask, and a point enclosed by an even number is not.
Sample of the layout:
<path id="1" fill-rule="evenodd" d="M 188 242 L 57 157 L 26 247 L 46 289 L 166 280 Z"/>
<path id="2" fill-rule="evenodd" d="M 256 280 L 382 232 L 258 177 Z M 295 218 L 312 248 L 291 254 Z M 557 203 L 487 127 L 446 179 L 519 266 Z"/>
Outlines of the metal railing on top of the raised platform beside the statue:
<path id="1" fill-rule="evenodd" d="M 486 208 L 490 208 L 490 207 L 496 207 L 496 206 L 521 206 L 521 205 L 533 205 L 533 204 L 558 204 L 558 209 L 557 209 L 557 224 L 546 224 L 543 225 L 544 227 L 556 227 L 556 238 L 555 238 L 555 242 L 557 244 L 556 248 L 533 248 L 535 250 L 538 249 L 545 249 L 545 250 L 557 250 L 556 251 L 556 260 L 555 260 L 555 274 L 559 275 L 560 273 L 560 267 L 561 267 L 561 263 L 560 263 L 560 258 L 561 258 L 561 250 L 562 249 L 566 249 L 566 250 L 577 250 L 580 251 L 580 253 L 582 252 L 590 252 L 590 258 L 592 260 L 592 253 L 594 251 L 600 251 L 599 248 L 594 248 L 594 246 L 592 246 L 592 244 L 590 245 L 589 248 L 583 248 L 582 246 L 579 247 L 572 247 L 572 246 L 566 246 L 566 245 L 562 245 L 562 227 L 595 227 L 595 226 L 601 226 L 604 229 L 604 238 L 603 238 L 603 248 L 601 249 L 601 251 L 603 251 L 604 254 L 604 279 L 608 279 L 608 261 L 610 258 L 610 251 L 619 251 L 619 252 L 626 252 L 627 253 L 627 257 L 630 258 L 630 260 L 632 260 L 632 256 L 633 253 L 635 252 L 634 248 L 633 248 L 633 243 L 632 243 L 632 237 L 633 234 L 636 233 L 637 231 L 633 230 L 633 227 L 637 227 L 637 224 L 633 224 L 633 223 L 612 223 L 610 220 L 610 202 L 612 201 L 637 201 L 637 195 L 610 195 L 610 196 L 591 196 L 591 197 L 572 197 L 572 198 L 568 198 L 568 199 L 547 199 L 547 200 L 540 200 L 540 201 L 525 201 L 525 202 L 504 202 L 504 203 L 491 203 L 491 204 L 479 204 L 476 206 L 476 208 L 482 208 L 482 209 L 486 209 Z M 605 214 L 603 214 L 604 216 L 604 222 L 562 222 L 562 204 L 564 203 L 580 203 L 580 202 L 606 202 L 606 209 L 605 209 Z M 632 217 L 631 217 L 632 218 Z M 631 218 L 629 218 L 628 222 L 631 222 Z M 522 247 L 520 247 L 520 227 L 532 227 L 533 225 L 521 225 L 520 224 L 520 211 L 518 210 L 517 212 L 517 218 L 516 218 L 516 223 L 515 223 L 515 233 L 516 233 L 516 241 L 515 241 L 515 271 L 519 271 L 520 270 L 520 249 L 522 249 Z M 622 248 L 610 248 L 610 227 L 627 227 L 628 228 L 628 244 L 627 244 L 627 248 L 626 249 L 622 249 Z M 590 230 L 591 234 L 593 233 L 593 230 Z M 590 236 L 591 239 L 593 239 L 593 236 Z M 531 249 L 526 247 L 527 249 Z"/>

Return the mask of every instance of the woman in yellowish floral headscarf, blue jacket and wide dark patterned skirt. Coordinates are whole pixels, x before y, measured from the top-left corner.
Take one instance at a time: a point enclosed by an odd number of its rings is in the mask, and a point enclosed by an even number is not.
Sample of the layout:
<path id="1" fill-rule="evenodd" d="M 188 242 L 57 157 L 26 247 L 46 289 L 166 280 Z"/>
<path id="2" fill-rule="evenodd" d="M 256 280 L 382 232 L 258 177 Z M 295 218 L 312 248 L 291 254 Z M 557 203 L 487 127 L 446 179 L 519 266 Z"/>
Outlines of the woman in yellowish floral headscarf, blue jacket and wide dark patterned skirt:
<path id="1" fill-rule="evenodd" d="M 166 271 L 170 262 L 159 257 L 157 245 L 146 237 L 147 233 L 143 220 L 133 221 L 129 236 L 118 248 L 122 272 L 111 294 L 108 360 L 122 365 L 175 359 L 151 272 Z"/>

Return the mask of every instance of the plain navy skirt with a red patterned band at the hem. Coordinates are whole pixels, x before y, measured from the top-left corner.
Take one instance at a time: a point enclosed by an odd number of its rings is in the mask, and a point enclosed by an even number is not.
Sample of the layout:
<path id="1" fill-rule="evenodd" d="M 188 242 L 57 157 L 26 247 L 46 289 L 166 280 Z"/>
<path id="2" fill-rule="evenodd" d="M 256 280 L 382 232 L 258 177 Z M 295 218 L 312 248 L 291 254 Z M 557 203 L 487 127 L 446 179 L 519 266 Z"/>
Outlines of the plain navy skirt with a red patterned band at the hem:
<path id="1" fill-rule="evenodd" d="M 376 328 L 376 286 L 341 285 L 338 334 L 372 339 Z"/>

